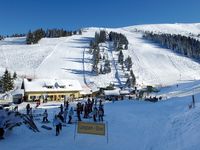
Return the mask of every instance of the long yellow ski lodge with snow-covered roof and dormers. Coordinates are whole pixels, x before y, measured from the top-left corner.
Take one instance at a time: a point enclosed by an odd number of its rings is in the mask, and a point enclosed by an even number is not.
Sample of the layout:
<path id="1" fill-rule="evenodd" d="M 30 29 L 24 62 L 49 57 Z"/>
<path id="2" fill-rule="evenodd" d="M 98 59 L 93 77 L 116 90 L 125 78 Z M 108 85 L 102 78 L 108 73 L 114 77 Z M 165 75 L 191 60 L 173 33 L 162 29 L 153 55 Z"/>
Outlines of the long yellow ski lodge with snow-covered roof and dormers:
<path id="1" fill-rule="evenodd" d="M 59 101 L 81 97 L 78 80 L 24 79 L 22 84 L 25 101 Z"/>

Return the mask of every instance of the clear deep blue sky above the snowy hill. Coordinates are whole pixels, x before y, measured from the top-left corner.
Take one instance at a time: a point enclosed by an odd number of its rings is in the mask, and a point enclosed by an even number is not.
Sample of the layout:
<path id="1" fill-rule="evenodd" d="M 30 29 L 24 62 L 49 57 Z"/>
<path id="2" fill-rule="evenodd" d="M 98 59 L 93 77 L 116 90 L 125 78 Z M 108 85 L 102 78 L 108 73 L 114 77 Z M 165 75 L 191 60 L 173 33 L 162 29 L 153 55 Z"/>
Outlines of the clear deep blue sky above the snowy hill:
<path id="1" fill-rule="evenodd" d="M 0 34 L 200 22 L 199 0 L 0 0 Z"/>

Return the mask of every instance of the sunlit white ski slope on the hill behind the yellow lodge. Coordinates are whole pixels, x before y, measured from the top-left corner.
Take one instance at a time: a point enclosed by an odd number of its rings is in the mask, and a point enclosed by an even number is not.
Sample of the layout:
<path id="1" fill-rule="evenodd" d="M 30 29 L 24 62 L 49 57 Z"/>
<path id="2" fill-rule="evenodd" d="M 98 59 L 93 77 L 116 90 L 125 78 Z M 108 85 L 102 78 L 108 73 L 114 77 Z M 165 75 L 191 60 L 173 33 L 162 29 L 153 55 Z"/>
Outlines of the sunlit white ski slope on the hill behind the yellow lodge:
<path id="1" fill-rule="evenodd" d="M 109 44 L 105 51 L 112 63 L 111 73 L 99 76 L 91 73 L 92 58 L 88 46 L 95 32 L 100 29 L 104 28 L 85 28 L 82 35 L 71 37 L 44 38 L 35 45 L 26 45 L 25 38 L 7 38 L 0 41 L 0 71 L 2 73 L 8 68 L 21 76 L 78 79 L 82 85 L 106 86 L 120 79 L 124 81 L 124 74 L 117 66 L 118 52 L 111 51 Z M 140 25 L 105 30 L 127 36 L 129 49 L 123 50 L 123 53 L 125 58 L 128 55 L 132 58 L 132 69 L 138 85 L 165 87 L 199 80 L 199 63 L 144 40 L 136 30 L 189 36 L 190 33 L 200 33 L 200 24 Z"/>

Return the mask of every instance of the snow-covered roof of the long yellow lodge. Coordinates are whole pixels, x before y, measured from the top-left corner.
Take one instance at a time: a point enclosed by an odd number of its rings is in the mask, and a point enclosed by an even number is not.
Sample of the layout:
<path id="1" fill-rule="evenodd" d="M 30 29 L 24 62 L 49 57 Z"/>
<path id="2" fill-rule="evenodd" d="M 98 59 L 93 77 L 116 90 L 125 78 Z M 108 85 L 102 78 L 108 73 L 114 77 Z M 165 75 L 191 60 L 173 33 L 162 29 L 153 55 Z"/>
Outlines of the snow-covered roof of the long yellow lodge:
<path id="1" fill-rule="evenodd" d="M 54 91 L 81 91 L 78 80 L 67 79 L 24 79 L 25 92 L 54 92 Z"/>

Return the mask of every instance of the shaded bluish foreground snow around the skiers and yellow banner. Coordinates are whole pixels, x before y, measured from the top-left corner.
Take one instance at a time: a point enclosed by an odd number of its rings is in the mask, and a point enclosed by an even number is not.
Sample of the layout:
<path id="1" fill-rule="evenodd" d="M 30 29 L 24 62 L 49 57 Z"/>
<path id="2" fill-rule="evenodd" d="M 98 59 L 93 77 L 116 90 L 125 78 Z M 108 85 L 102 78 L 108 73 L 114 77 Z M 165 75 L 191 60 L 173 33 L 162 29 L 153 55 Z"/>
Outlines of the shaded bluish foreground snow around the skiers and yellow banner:
<path id="1" fill-rule="evenodd" d="M 199 95 L 195 98 L 199 99 Z M 6 132 L 0 146 L 2 150 L 198 150 L 200 103 L 197 101 L 194 109 L 188 109 L 191 97 L 173 98 L 158 103 L 136 100 L 108 102 L 104 105 L 104 120 L 108 122 L 108 143 L 106 136 L 98 135 L 76 133 L 74 139 L 74 123 L 63 127 L 61 134 L 55 136 L 52 120 L 60 110 L 60 103 L 49 102 L 34 109 L 34 113 L 43 113 L 47 109 L 51 123 L 45 125 L 53 127 L 53 130 L 41 128 L 40 117 L 40 120 L 35 121 L 39 133 L 33 133 L 25 126 L 16 127 Z M 75 115 L 73 122 L 76 120 Z M 92 122 L 92 118 L 85 121 Z"/>

